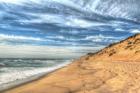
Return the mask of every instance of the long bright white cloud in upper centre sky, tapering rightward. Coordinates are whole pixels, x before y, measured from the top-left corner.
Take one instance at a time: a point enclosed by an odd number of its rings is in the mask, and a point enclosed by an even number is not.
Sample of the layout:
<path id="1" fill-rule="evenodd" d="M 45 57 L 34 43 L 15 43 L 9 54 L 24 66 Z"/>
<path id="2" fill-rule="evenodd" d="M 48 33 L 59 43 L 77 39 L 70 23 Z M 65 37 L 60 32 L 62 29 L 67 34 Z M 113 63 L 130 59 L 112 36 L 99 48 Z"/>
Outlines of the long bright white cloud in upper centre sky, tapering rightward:
<path id="1" fill-rule="evenodd" d="M 34 19 L 30 20 L 18 20 L 20 23 L 31 24 L 31 23 L 55 23 L 58 26 L 65 27 L 81 27 L 88 28 L 92 26 L 102 26 L 109 25 L 107 23 L 101 22 L 92 22 L 86 19 L 77 18 L 76 16 L 64 16 L 64 15 L 56 15 L 56 14 L 48 14 L 48 13 L 26 13 L 29 16 L 34 16 Z"/>

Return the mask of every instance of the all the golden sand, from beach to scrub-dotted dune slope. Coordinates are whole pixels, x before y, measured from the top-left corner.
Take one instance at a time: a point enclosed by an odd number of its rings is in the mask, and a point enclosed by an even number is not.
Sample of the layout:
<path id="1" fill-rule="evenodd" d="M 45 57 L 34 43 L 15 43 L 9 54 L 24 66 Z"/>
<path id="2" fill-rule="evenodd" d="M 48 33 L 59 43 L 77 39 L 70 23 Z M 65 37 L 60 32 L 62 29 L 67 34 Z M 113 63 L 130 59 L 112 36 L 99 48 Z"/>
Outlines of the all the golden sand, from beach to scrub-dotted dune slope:
<path id="1" fill-rule="evenodd" d="M 140 34 L 4 93 L 140 93 Z"/>

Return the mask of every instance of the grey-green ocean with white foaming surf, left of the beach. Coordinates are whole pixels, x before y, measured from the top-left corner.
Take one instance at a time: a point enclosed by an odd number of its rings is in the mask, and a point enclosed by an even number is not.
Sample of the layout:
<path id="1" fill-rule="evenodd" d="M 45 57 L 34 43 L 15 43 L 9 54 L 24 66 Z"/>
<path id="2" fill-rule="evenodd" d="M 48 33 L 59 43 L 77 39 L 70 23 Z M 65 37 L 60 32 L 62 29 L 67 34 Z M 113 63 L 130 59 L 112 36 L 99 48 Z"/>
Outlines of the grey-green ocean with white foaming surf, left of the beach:
<path id="1" fill-rule="evenodd" d="M 70 63 L 70 59 L 0 59 L 0 90 Z"/>

